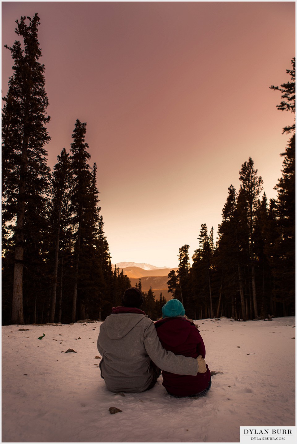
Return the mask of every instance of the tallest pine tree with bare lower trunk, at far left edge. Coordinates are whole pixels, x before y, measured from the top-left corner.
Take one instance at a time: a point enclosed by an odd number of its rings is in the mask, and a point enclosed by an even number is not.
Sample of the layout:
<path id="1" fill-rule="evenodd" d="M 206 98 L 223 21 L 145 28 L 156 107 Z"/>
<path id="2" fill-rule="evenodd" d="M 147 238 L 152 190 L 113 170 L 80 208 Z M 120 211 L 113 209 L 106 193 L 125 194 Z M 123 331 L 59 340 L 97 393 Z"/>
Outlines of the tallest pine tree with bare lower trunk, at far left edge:
<path id="1" fill-rule="evenodd" d="M 38 246 L 42 242 L 43 231 L 46 231 L 49 168 L 44 146 L 50 140 L 45 127 L 50 118 L 46 115 L 48 98 L 44 65 L 39 62 L 40 19 L 37 14 L 33 19 L 22 16 L 16 24 L 16 34 L 23 42 L 16 40 L 11 48 L 5 45 L 14 60 L 14 72 L 8 82 L 9 90 L 2 111 L 2 214 L 4 238 L 13 234 L 12 323 L 22 324 L 23 271 L 24 261 L 28 258 L 24 249 L 28 253 L 27 245 L 31 243 L 35 246 L 34 254 L 39 254 Z M 6 228 L 9 223 L 10 233 Z M 36 266 L 34 258 L 29 258 L 27 265 L 32 271 L 32 267 Z M 34 270 L 33 274 L 36 275 Z"/>

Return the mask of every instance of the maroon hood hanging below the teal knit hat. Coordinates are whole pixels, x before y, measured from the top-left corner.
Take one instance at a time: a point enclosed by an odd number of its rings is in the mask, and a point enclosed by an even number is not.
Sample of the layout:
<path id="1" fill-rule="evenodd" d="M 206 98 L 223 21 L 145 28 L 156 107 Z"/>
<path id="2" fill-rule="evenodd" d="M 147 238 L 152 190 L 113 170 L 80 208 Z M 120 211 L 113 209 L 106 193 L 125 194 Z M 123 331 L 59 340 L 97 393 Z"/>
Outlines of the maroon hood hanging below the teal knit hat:
<path id="1" fill-rule="evenodd" d="M 174 345 L 179 346 L 188 339 L 192 324 L 185 317 L 167 317 L 155 322 L 154 325 L 158 337 L 164 344 L 169 345 L 174 341 Z"/>

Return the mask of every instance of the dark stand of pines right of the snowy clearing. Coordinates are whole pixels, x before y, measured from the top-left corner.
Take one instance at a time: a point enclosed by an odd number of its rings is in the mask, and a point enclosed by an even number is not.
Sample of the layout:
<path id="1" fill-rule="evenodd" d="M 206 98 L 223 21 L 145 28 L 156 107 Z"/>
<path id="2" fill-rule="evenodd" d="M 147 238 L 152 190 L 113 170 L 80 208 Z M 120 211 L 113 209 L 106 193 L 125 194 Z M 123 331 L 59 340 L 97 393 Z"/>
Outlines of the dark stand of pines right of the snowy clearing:
<path id="1" fill-rule="evenodd" d="M 295 113 L 295 58 L 277 108 Z M 168 291 L 193 319 L 271 319 L 295 314 L 295 123 L 281 154 L 277 198 L 267 201 L 253 159 L 242 164 L 240 188 L 228 188 L 214 244 L 214 230 L 201 225 L 190 266 L 189 245 L 179 249 L 178 271 L 168 275 Z"/>

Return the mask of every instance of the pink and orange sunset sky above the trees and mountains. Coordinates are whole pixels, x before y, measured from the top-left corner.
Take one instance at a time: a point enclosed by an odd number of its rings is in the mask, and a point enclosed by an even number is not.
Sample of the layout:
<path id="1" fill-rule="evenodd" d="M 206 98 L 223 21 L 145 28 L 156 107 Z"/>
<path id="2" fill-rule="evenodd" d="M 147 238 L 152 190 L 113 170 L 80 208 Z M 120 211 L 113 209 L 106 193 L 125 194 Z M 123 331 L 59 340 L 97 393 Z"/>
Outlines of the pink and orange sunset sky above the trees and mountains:
<path id="1" fill-rule="evenodd" d="M 40 16 L 49 99 L 48 163 L 87 122 L 113 263 L 178 266 L 216 231 L 228 187 L 252 157 L 268 198 L 293 115 L 269 86 L 289 80 L 295 2 L 2 2 L 2 48 L 15 20 Z M 2 50 L 2 95 L 12 75 Z"/>

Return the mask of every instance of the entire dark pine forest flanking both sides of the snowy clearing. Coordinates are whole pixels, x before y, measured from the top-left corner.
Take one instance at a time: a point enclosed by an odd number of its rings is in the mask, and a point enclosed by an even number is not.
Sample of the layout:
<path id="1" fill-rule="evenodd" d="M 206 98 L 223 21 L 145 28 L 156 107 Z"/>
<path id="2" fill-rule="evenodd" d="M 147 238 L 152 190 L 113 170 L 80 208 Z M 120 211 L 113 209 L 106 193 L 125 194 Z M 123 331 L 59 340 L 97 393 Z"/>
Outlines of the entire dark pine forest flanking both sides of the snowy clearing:
<path id="1" fill-rule="evenodd" d="M 38 41 L 40 19 L 16 20 L 13 74 L 2 108 L 2 323 L 105 319 L 131 282 L 112 271 L 96 182 L 97 166 L 85 141 L 87 125 L 74 123 L 70 151 L 47 164 L 48 98 Z M 295 113 L 295 58 L 280 87 L 278 109 Z M 242 164 L 238 192 L 230 185 L 218 242 L 202 224 L 190 266 L 179 249 L 168 291 L 193 319 L 271 318 L 295 313 L 295 124 L 283 156 L 277 199 L 267 202 L 253 160 Z M 141 280 L 136 284 L 141 289 Z M 165 298 L 144 294 L 155 320 Z"/>

